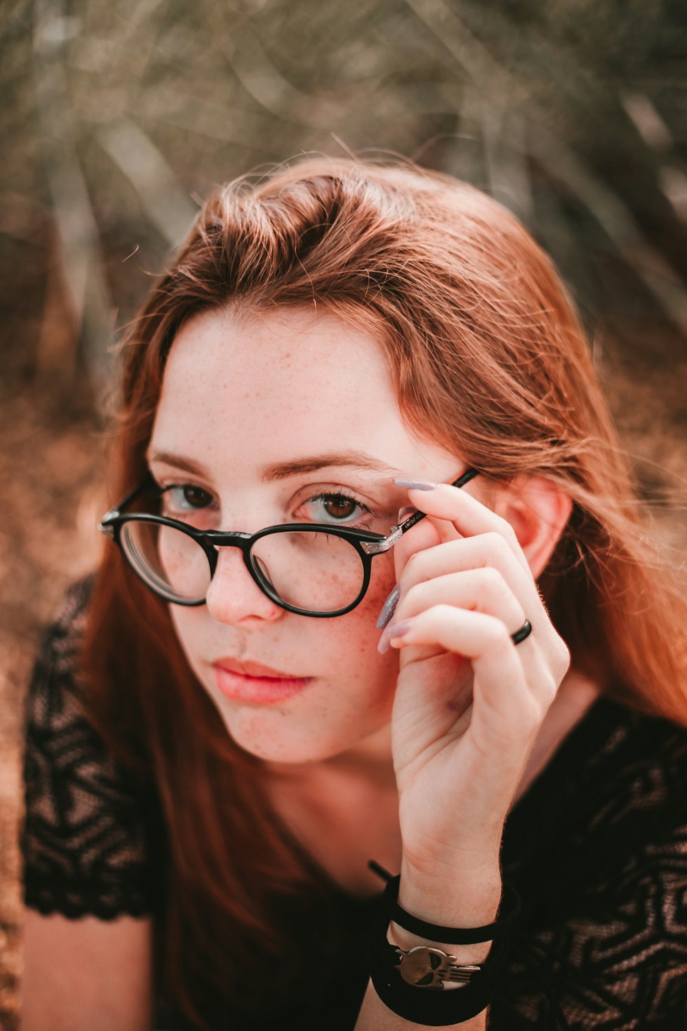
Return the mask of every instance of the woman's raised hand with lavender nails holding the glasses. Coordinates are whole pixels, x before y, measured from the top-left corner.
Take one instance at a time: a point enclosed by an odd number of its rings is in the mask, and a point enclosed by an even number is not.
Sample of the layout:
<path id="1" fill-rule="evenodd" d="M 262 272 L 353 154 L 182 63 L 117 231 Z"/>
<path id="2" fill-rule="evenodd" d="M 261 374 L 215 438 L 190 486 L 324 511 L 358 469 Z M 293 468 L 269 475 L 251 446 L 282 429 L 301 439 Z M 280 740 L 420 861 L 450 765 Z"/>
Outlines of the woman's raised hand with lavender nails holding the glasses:
<path id="1" fill-rule="evenodd" d="M 402 884 L 471 876 L 491 857 L 569 666 L 511 525 L 465 490 L 410 490 L 430 517 L 397 544 L 401 651 L 391 722 Z M 520 644 L 511 635 L 528 620 Z M 396 630 L 396 633 L 394 633 Z"/>

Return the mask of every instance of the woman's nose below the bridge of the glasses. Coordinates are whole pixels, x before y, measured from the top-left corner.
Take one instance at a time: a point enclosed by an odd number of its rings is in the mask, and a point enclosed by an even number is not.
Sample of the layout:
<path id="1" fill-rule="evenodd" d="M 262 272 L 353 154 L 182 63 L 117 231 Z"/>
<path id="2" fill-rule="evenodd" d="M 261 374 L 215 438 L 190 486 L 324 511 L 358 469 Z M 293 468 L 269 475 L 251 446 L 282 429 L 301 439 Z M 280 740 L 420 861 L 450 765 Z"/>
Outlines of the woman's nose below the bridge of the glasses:
<path id="1" fill-rule="evenodd" d="M 273 623 L 285 611 L 255 584 L 238 547 L 219 547 L 217 565 L 205 598 L 218 623 Z"/>

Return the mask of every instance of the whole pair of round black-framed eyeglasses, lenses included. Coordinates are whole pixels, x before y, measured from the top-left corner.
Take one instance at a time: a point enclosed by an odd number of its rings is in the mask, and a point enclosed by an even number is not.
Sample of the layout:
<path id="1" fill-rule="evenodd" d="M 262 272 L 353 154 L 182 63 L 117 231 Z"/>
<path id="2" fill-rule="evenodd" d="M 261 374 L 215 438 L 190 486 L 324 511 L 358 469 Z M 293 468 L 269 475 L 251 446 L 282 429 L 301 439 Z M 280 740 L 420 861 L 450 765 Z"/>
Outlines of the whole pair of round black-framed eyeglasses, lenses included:
<path id="1" fill-rule="evenodd" d="M 468 469 L 453 487 L 477 475 Z M 387 536 L 370 530 L 316 523 L 268 526 L 257 533 L 197 530 L 167 516 L 124 512 L 146 492 L 162 491 L 151 477 L 107 511 L 98 529 L 122 550 L 134 572 L 154 594 L 175 605 L 205 604 L 219 547 L 238 547 L 257 587 L 275 604 L 298 616 L 329 619 L 360 603 L 372 560 L 388 552 L 425 513 L 413 512 Z"/>

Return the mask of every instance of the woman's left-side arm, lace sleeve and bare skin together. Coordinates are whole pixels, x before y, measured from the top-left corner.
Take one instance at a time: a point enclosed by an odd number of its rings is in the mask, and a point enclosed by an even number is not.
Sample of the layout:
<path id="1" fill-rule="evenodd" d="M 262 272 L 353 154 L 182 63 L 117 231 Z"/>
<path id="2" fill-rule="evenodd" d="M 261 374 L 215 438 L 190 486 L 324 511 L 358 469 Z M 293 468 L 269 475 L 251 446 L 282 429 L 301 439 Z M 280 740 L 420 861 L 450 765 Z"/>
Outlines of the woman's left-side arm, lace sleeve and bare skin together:
<path id="1" fill-rule="evenodd" d="M 77 688 L 89 596 L 69 591 L 27 698 L 24 1031 L 151 1027 L 151 821 Z"/>

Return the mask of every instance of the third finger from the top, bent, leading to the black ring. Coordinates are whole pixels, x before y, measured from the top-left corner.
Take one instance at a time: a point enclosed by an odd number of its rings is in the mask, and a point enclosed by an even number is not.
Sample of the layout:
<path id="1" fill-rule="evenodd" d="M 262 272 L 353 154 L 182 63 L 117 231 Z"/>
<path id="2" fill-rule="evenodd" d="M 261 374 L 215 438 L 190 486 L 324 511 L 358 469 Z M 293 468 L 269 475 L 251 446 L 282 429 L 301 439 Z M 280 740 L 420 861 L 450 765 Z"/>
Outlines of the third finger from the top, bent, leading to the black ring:
<path id="1" fill-rule="evenodd" d="M 453 605 L 493 616 L 510 634 L 519 630 L 526 619 L 522 605 L 493 566 L 463 569 L 414 584 L 404 593 L 396 620 L 418 616 L 433 605 Z"/>

